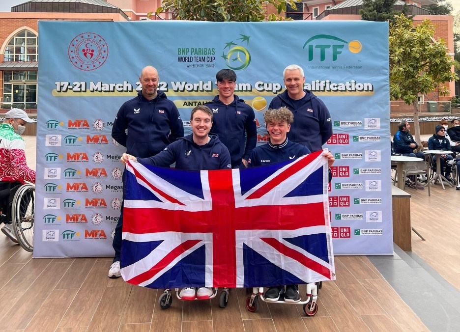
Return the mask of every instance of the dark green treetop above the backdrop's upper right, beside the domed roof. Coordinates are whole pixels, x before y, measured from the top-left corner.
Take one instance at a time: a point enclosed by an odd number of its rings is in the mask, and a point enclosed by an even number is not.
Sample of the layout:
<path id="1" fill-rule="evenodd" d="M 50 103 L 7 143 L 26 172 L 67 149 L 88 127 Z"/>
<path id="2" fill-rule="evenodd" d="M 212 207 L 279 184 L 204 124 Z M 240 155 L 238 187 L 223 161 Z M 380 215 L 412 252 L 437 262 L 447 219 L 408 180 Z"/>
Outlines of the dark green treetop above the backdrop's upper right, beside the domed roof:
<path id="1" fill-rule="evenodd" d="M 359 14 L 361 20 L 374 22 L 393 22 L 395 16 L 407 13 L 407 6 L 404 4 L 403 11 L 395 10 L 396 0 L 363 0 Z"/>

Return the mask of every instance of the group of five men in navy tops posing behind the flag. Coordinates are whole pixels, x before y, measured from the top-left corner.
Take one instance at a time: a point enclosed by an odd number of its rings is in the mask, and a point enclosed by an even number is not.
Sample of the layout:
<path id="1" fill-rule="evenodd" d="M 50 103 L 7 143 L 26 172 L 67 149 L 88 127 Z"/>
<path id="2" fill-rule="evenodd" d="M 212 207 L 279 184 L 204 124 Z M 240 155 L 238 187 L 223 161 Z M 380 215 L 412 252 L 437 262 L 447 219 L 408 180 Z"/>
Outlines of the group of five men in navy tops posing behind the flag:
<path id="1" fill-rule="evenodd" d="M 262 166 L 318 151 L 332 135 L 329 111 L 311 91 L 304 90 L 305 75 L 297 65 L 283 72 L 286 91 L 276 96 L 264 113 L 269 141 L 259 147 L 254 110 L 234 94 L 234 71 L 222 69 L 216 74 L 219 95 L 192 110 L 192 134 L 186 137 L 174 103 L 157 91 L 157 70 L 147 66 L 139 79 L 142 91 L 121 106 L 112 130 L 112 137 L 126 147 L 123 163 L 137 160 L 169 167 L 175 162 L 177 169 L 188 170 Z M 325 153 L 324 157 L 331 166 L 332 154 Z M 121 276 L 121 228 L 122 209 L 115 228 L 115 257 L 109 277 Z M 179 296 L 183 300 L 206 299 L 212 293 L 206 287 L 186 287 Z M 268 301 L 278 301 L 281 296 L 287 302 L 300 301 L 297 285 L 288 285 L 286 291 L 284 286 L 270 287 L 265 293 Z"/>

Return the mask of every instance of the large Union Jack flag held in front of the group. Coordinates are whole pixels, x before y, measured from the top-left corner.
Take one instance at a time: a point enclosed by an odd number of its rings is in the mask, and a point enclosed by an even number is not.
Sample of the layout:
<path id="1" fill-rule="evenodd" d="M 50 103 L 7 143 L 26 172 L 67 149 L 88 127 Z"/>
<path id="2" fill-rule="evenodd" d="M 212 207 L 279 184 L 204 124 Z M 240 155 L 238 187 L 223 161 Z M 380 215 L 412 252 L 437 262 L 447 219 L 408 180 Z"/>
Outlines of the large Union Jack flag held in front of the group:
<path id="1" fill-rule="evenodd" d="M 334 280 L 322 151 L 247 169 L 126 165 L 121 275 L 150 288 Z"/>

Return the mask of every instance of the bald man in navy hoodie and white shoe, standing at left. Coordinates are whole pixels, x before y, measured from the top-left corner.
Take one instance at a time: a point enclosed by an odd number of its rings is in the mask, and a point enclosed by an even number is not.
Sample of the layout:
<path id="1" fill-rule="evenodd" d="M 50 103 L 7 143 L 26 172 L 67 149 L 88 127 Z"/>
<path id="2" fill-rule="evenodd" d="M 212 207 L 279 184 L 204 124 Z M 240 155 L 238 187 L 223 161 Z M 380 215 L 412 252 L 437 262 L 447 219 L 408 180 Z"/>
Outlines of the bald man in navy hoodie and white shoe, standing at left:
<path id="1" fill-rule="evenodd" d="M 184 126 L 174 103 L 164 92 L 157 90 L 158 71 L 152 66 L 144 67 L 139 81 L 142 91 L 138 92 L 137 97 L 121 105 L 115 116 L 112 137 L 126 147 L 127 154 L 147 158 L 163 151 L 177 138 L 183 137 Z M 121 277 L 122 226 L 123 205 L 115 227 L 113 242 L 115 257 L 109 270 L 111 278 Z"/>

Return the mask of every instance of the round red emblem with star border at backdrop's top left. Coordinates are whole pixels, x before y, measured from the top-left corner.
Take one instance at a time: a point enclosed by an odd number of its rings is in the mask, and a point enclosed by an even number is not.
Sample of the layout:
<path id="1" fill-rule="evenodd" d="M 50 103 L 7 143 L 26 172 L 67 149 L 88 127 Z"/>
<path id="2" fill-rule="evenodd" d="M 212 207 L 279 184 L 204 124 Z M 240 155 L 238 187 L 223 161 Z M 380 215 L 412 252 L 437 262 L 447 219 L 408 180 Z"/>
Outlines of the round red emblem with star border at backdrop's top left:
<path id="1" fill-rule="evenodd" d="M 80 70 L 94 70 L 107 60 L 109 47 L 97 33 L 84 32 L 76 36 L 69 44 L 69 59 Z"/>

